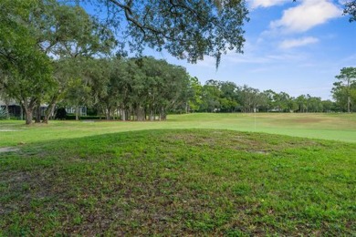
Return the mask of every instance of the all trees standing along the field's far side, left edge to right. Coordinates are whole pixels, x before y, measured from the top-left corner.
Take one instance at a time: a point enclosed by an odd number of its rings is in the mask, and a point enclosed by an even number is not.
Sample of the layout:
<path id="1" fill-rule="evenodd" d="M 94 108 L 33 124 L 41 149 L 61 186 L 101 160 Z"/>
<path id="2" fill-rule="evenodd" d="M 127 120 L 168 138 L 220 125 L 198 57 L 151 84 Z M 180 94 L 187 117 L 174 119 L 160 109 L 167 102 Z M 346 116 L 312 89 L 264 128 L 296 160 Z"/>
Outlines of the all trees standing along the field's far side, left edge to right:
<path id="1" fill-rule="evenodd" d="M 21 106 L 26 124 L 34 117 L 36 122 L 47 122 L 60 107 L 77 108 L 78 118 L 79 106 L 89 108 L 92 114 L 121 120 L 162 120 L 171 112 L 356 109 L 355 67 L 343 68 L 337 76 L 339 81 L 332 89 L 335 102 L 309 95 L 292 98 L 285 92 L 261 92 L 233 82 L 209 80 L 201 85 L 183 67 L 152 57 L 126 57 L 122 42 L 107 22 L 89 15 L 80 5 L 65 2 L 2 3 L 0 97 L 7 105 L 15 100 Z M 134 32 L 128 34 L 136 36 Z M 180 44 L 171 46 L 175 56 L 186 51 Z M 198 44 L 195 49 L 203 50 L 204 46 Z M 188 47 L 192 50 L 191 45 Z M 118 48 L 121 50 L 114 56 L 113 50 Z M 192 52 L 188 55 L 193 62 L 198 58 Z M 43 105 L 46 109 L 40 111 Z M 5 114 L 1 109 L 0 114 Z"/>

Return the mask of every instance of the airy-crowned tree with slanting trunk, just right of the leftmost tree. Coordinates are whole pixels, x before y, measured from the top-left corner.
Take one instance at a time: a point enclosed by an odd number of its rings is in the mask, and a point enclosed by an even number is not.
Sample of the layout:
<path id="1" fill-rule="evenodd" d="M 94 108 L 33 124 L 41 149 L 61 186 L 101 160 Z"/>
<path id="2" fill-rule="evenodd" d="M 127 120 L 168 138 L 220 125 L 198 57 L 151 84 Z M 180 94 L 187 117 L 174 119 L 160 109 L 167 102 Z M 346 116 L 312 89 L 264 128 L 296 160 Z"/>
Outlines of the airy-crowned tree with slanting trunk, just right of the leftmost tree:
<path id="1" fill-rule="evenodd" d="M 98 19 L 87 14 L 79 5 L 64 5 L 56 0 L 41 1 L 37 10 L 33 12 L 31 24 L 37 29 L 37 45 L 45 53 L 55 56 L 57 60 L 71 58 L 68 61 L 73 67 L 81 65 L 88 69 L 89 67 L 83 64 L 83 62 L 89 62 L 86 58 L 106 56 L 117 43 L 111 30 L 100 24 Z M 57 67 L 57 69 L 63 69 L 63 67 Z M 55 93 L 47 101 L 44 122 L 48 121 L 58 100 L 63 97 L 68 80 L 83 77 L 84 72 L 81 68 L 79 68 L 82 72 L 81 76 L 78 70 L 71 70 L 71 76 L 68 75 L 69 71 L 67 70 L 67 75 L 64 77 L 60 72 L 55 77 L 57 87 L 54 88 Z M 62 77 L 58 76 L 60 74 Z M 72 83 L 71 85 L 78 84 Z"/>

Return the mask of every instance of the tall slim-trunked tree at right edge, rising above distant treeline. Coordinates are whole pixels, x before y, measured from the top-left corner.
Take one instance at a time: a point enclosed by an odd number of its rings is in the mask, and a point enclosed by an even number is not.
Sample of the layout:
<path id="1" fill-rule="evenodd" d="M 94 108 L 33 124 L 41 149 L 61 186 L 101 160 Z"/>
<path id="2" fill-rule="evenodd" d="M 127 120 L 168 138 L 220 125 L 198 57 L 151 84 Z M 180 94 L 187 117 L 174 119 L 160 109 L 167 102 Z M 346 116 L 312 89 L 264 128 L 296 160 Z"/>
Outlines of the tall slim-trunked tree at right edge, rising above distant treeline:
<path id="1" fill-rule="evenodd" d="M 340 80 L 340 83 L 334 83 L 334 86 L 336 87 L 335 90 L 333 90 L 334 94 L 335 93 L 340 93 L 341 88 L 344 87 L 344 92 L 346 93 L 347 97 L 347 111 L 348 113 L 351 112 L 351 84 L 353 84 L 356 81 L 356 67 L 343 67 L 340 70 L 340 75 L 336 76 Z"/>

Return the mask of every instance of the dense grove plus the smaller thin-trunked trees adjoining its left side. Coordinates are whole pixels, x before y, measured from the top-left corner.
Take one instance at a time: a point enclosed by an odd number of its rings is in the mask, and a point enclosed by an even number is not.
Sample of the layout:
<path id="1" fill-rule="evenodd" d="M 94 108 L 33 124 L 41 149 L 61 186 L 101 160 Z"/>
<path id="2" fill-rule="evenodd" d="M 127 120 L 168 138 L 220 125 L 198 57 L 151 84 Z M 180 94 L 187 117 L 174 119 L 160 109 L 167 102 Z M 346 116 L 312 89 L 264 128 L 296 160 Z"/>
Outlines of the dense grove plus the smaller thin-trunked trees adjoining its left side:
<path id="1" fill-rule="evenodd" d="M 106 119 L 163 120 L 168 111 L 186 107 L 189 75 L 185 68 L 153 57 L 101 58 L 57 62 L 66 78 L 59 107 L 87 106 Z"/>

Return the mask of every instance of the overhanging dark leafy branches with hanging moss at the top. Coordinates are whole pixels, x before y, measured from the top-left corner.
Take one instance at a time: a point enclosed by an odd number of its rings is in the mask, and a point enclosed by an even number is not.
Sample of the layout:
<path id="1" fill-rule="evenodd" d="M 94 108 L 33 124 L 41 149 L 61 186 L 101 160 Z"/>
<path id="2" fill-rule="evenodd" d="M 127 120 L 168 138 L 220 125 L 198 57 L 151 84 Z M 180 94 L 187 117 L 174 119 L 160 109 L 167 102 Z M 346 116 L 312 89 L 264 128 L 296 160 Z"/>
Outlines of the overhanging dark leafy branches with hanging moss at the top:
<path id="1" fill-rule="evenodd" d="M 204 56 L 220 57 L 227 50 L 242 53 L 246 2 L 217 1 L 133 1 L 90 0 L 97 9 L 107 9 L 106 21 L 126 38 L 131 51 L 145 46 L 167 50 L 173 57 L 196 62 Z M 102 14 L 102 11 L 101 11 Z M 122 23 L 125 19 L 127 23 Z"/>

